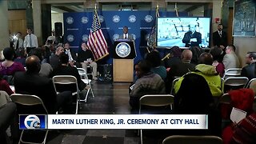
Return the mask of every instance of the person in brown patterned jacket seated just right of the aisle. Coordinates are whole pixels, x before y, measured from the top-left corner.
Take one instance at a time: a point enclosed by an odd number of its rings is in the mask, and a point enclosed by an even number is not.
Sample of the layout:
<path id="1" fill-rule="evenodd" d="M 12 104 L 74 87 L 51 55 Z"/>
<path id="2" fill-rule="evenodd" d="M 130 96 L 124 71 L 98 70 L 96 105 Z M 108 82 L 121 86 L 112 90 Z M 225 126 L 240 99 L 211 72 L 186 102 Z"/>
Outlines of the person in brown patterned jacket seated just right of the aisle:
<path id="1" fill-rule="evenodd" d="M 165 94 L 165 84 L 158 74 L 150 71 L 149 63 L 145 60 L 135 66 L 137 81 L 130 90 L 130 106 L 132 112 L 138 112 L 139 98 L 145 94 Z"/>

